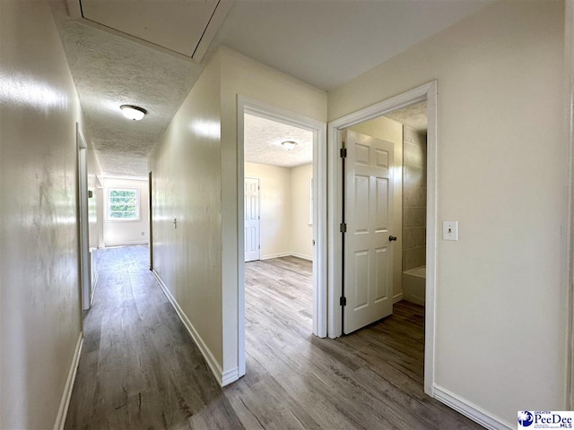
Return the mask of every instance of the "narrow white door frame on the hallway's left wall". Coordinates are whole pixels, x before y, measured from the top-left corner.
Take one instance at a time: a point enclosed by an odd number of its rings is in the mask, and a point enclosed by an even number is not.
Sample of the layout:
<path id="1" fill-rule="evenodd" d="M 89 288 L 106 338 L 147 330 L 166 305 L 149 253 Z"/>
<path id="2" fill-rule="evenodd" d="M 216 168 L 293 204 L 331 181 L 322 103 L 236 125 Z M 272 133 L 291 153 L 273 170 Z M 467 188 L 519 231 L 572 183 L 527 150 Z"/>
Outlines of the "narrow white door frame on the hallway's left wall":
<path id="1" fill-rule="evenodd" d="M 78 153 L 78 247 L 80 267 L 80 291 L 82 310 L 91 307 L 90 271 L 90 220 L 88 215 L 88 145 L 83 137 L 80 124 L 75 123 L 76 146 Z"/>

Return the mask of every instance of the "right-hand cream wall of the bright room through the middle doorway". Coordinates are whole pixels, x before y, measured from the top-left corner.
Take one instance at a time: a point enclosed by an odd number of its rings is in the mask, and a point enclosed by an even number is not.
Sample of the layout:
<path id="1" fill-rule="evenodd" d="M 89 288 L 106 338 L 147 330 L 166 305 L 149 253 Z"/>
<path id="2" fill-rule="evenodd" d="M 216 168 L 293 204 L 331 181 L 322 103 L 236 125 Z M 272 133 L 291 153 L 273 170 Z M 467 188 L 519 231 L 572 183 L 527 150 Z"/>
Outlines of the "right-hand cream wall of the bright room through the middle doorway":
<path id="1" fill-rule="evenodd" d="M 309 224 L 309 181 L 313 164 L 291 168 L 291 254 L 313 259 L 313 226 Z"/>

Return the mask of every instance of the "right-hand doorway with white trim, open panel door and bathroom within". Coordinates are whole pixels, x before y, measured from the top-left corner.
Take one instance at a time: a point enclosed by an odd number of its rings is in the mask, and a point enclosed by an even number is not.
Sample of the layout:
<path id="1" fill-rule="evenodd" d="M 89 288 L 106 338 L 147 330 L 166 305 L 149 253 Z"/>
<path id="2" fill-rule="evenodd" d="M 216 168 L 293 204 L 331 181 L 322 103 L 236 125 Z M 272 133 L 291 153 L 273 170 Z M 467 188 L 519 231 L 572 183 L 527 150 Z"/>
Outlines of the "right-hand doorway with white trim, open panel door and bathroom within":
<path id="1" fill-rule="evenodd" d="M 424 116 L 428 125 L 413 124 L 413 116 Z M 424 391 L 432 397 L 436 82 L 338 119 L 328 131 L 333 148 L 329 151 L 333 245 L 329 337 L 375 323 L 398 304 L 399 316 L 411 313 L 421 319 L 424 368 L 420 370 Z M 410 303 L 405 306 L 402 301 Z"/>

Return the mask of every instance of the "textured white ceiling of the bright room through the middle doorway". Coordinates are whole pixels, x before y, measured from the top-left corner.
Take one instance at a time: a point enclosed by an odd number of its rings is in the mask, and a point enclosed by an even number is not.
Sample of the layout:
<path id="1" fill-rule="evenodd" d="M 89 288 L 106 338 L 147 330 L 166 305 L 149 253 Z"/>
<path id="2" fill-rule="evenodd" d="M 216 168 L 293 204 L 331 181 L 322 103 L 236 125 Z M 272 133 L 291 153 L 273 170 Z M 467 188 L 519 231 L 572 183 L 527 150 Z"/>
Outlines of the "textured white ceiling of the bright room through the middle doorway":
<path id="1" fill-rule="evenodd" d="M 285 150 L 283 141 L 297 142 Z M 259 116 L 245 115 L 245 161 L 293 168 L 313 162 L 313 133 Z"/>

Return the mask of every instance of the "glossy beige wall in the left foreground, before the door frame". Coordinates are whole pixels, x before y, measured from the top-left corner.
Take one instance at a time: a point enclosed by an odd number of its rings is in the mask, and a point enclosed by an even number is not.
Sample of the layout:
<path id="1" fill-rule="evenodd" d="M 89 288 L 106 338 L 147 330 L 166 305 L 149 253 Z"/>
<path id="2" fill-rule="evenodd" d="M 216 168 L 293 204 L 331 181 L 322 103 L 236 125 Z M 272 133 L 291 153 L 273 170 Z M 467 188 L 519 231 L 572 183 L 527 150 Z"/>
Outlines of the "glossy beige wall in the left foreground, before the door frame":
<path id="1" fill-rule="evenodd" d="M 0 428 L 52 428 L 82 331 L 74 82 L 46 2 L 0 2 Z"/>

